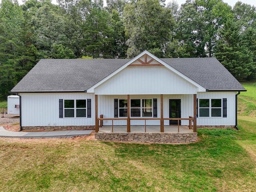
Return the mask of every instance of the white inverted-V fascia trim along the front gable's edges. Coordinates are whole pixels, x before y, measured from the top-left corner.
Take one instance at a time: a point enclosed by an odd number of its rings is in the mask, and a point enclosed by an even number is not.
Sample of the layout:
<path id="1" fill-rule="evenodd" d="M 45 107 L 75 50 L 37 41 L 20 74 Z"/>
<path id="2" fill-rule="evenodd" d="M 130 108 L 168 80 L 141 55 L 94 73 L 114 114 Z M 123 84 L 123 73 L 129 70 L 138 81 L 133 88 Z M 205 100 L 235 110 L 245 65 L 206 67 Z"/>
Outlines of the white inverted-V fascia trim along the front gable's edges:
<path id="1" fill-rule="evenodd" d="M 98 83 L 96 83 L 94 86 L 90 87 L 87 92 L 88 93 L 93 93 L 94 92 L 94 88 L 98 87 L 100 84 L 104 83 L 106 80 L 108 80 L 109 78 L 111 78 L 112 76 L 114 76 L 115 74 L 117 74 L 118 72 L 120 72 L 121 70 L 123 70 L 124 68 L 126 68 L 128 65 L 132 64 L 134 61 L 136 61 L 137 59 L 139 59 L 140 57 L 142 57 L 144 54 L 147 54 L 148 56 L 150 56 L 151 58 L 153 58 L 154 60 L 156 60 L 157 62 L 163 64 L 166 68 L 168 68 L 169 70 L 171 70 L 172 72 L 174 72 L 175 74 L 179 75 L 180 77 L 184 78 L 185 80 L 187 80 L 188 82 L 192 83 L 194 86 L 196 86 L 198 88 L 198 92 L 206 92 L 206 88 L 204 88 L 203 86 L 201 86 L 200 84 L 194 82 L 192 79 L 188 78 L 187 76 L 185 76 L 184 74 L 182 74 L 181 72 L 179 72 L 178 70 L 174 69 L 172 66 L 168 65 L 166 62 L 164 62 L 163 60 L 161 60 L 160 58 L 154 56 L 152 53 L 148 52 L 147 50 L 143 51 L 142 53 L 140 53 L 138 56 L 134 57 L 132 60 L 130 60 L 129 62 L 127 62 L 126 64 L 124 64 L 122 67 L 118 68 L 116 71 L 112 72 L 112 74 L 106 76 L 104 79 L 100 80 Z"/>

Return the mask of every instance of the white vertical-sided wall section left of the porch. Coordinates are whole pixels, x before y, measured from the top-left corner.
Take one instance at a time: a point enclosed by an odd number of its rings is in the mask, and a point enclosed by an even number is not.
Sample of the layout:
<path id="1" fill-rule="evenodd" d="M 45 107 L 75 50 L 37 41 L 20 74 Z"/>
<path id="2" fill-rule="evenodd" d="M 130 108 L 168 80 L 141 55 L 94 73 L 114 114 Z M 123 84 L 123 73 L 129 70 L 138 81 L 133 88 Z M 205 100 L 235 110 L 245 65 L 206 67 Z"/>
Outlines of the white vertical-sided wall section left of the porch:
<path id="1" fill-rule="evenodd" d="M 95 97 L 88 93 L 21 93 L 22 126 L 95 125 Z M 59 118 L 59 99 L 91 99 L 91 118 Z M 86 101 L 87 102 L 87 101 Z M 86 111 L 87 115 L 87 111 Z"/>

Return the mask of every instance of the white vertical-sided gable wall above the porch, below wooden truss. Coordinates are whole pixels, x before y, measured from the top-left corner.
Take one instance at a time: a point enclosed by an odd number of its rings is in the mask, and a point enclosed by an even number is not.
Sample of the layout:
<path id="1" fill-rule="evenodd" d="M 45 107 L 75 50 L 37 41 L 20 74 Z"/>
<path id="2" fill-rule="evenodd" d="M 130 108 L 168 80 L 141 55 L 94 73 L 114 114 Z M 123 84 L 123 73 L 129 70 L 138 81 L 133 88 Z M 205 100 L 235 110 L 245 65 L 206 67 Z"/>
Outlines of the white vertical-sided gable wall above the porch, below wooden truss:
<path id="1" fill-rule="evenodd" d="M 198 88 L 165 67 L 127 67 L 94 89 L 98 95 L 196 94 Z"/>

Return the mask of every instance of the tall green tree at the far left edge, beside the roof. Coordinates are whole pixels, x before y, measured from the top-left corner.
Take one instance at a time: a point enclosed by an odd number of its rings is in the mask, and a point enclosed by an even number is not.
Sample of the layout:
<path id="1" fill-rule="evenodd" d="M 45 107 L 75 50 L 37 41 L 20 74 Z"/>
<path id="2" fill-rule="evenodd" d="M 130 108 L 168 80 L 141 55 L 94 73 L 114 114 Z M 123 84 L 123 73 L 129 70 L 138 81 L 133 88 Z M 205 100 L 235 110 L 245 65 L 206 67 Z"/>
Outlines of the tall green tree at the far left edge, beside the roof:
<path id="1" fill-rule="evenodd" d="M 34 66 L 34 47 L 26 42 L 24 16 L 17 1 L 0 5 L 0 94 L 4 97 Z"/>

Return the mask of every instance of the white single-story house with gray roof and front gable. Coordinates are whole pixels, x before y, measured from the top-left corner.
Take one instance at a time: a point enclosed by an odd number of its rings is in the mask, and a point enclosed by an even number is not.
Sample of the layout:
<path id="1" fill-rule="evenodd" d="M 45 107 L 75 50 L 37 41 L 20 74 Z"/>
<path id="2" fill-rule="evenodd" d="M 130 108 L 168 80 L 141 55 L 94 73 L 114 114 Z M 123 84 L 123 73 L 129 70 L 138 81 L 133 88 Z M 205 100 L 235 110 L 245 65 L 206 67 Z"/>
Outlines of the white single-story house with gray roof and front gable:
<path id="1" fill-rule="evenodd" d="M 244 87 L 216 58 L 41 59 L 11 90 L 20 96 L 20 128 L 237 126 Z M 103 118 L 100 118 L 100 115 Z M 173 119 L 171 119 L 173 118 Z M 177 120 L 180 118 L 180 120 Z M 146 121 L 145 121 L 146 120 Z"/>

